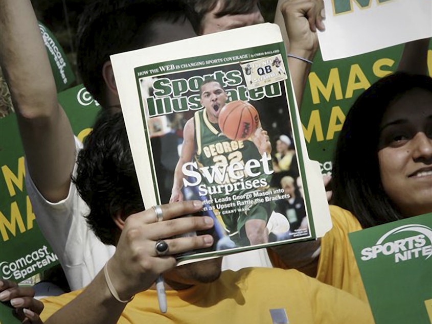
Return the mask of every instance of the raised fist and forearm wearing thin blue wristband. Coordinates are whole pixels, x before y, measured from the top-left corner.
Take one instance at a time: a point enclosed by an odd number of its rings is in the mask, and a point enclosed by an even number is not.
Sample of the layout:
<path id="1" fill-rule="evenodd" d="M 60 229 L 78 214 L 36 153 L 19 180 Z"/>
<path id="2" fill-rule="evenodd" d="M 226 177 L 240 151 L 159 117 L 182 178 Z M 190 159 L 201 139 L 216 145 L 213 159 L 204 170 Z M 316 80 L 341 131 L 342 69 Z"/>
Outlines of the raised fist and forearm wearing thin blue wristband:
<path id="1" fill-rule="evenodd" d="M 301 106 L 307 76 L 316 50 L 318 49 L 317 30 L 324 30 L 324 4 L 321 0 L 279 0 L 284 20 L 277 13 L 275 22 L 280 26 L 288 55 L 288 66 L 291 74 L 297 105 Z"/>

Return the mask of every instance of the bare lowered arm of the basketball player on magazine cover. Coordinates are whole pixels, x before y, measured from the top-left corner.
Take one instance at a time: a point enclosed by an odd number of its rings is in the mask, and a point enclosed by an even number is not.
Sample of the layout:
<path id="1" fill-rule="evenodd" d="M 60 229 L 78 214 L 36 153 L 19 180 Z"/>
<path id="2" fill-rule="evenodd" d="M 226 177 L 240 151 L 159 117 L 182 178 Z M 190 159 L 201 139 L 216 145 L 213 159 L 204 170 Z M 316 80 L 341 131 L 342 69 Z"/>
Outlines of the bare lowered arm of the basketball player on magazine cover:
<path id="1" fill-rule="evenodd" d="M 183 188 L 183 165 L 190 162 L 195 152 L 195 127 L 193 118 L 186 122 L 183 129 L 183 145 L 181 146 L 180 157 L 178 158 L 177 165 L 174 170 L 174 184 L 172 186 L 170 202 L 183 201 L 183 194 L 181 188 Z"/>

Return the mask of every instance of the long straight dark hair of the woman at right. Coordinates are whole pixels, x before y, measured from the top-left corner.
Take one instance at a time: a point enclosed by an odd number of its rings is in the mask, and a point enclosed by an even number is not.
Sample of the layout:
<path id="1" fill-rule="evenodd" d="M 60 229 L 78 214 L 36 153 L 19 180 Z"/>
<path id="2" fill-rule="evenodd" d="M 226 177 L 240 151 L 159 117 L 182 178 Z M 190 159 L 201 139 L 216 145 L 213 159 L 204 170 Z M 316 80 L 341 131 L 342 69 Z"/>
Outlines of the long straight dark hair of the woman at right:
<path id="1" fill-rule="evenodd" d="M 382 187 L 378 141 L 386 109 L 414 88 L 432 92 L 432 78 L 398 72 L 378 80 L 354 102 L 340 131 L 332 202 L 353 213 L 363 228 L 402 219 Z"/>

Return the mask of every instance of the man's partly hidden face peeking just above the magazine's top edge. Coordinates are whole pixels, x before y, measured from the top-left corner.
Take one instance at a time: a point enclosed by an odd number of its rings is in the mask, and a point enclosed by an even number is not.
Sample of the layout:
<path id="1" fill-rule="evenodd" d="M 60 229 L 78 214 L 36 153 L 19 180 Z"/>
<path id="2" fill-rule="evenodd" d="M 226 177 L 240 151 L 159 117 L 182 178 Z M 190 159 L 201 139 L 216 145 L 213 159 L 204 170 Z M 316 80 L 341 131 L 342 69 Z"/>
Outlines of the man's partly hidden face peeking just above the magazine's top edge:
<path id="1" fill-rule="evenodd" d="M 199 34 L 261 24 L 258 0 L 186 0 L 199 21 Z"/>

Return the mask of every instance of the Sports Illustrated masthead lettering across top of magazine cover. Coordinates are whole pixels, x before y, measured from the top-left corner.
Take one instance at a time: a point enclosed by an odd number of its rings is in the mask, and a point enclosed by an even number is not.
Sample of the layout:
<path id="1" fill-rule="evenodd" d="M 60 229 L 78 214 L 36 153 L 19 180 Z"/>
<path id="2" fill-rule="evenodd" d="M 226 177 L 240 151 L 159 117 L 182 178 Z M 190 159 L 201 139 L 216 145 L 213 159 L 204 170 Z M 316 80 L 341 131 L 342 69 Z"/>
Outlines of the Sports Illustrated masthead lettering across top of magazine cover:
<path id="1" fill-rule="evenodd" d="M 199 88 L 201 83 L 207 79 L 215 79 L 222 85 L 228 101 L 258 101 L 282 95 L 280 82 L 248 90 L 244 85 L 242 72 L 239 70 L 216 71 L 212 74 L 193 76 L 188 79 L 158 78 L 152 83 L 152 96 L 146 98 L 148 117 L 202 109 Z"/>

